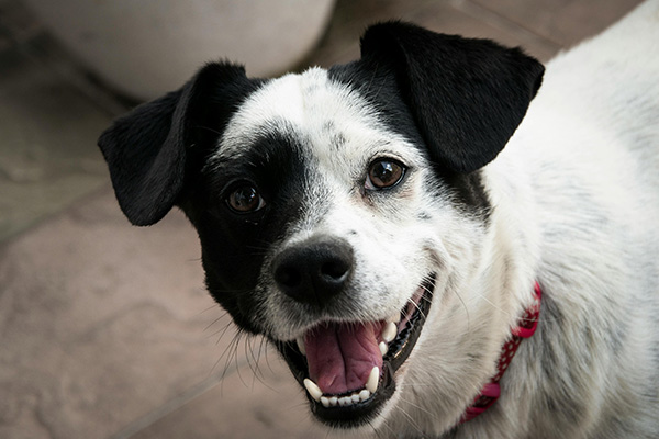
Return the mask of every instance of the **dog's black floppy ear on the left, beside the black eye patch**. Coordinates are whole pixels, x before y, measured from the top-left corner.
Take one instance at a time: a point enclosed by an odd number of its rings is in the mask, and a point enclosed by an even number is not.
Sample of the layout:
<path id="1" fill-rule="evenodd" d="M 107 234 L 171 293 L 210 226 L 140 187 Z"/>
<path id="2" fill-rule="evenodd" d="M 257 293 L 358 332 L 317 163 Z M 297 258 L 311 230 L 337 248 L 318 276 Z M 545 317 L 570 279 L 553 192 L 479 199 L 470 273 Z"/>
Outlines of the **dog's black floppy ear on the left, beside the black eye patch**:
<path id="1" fill-rule="evenodd" d="M 209 64 L 181 89 L 118 119 L 99 138 L 119 204 L 134 225 L 152 225 L 177 202 L 199 143 L 217 136 L 242 66 Z M 213 120 L 209 121 L 209 115 Z"/>

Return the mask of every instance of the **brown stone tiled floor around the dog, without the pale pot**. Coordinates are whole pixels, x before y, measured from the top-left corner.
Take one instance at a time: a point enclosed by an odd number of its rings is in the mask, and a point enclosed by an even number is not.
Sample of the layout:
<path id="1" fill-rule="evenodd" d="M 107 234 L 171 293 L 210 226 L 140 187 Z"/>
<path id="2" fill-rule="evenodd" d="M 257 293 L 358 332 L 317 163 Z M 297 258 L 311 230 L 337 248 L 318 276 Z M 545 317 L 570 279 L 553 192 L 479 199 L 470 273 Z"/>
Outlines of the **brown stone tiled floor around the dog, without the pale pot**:
<path id="1" fill-rule="evenodd" d="M 637 3 L 338 0 L 305 65 L 357 57 L 390 18 L 547 60 Z M 326 437 L 277 354 L 233 342 L 183 216 L 121 215 L 94 145 L 122 109 L 0 0 L 0 438 Z"/>

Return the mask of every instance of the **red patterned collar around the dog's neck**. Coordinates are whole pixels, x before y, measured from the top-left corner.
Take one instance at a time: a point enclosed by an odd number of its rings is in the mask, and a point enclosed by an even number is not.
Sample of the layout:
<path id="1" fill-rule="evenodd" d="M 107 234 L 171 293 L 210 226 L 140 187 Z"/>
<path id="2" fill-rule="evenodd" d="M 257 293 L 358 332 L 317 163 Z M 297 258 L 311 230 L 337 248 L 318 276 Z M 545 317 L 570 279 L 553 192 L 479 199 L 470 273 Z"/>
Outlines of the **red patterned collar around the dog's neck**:
<path id="1" fill-rule="evenodd" d="M 501 356 L 496 362 L 496 374 L 483 386 L 481 393 L 473 399 L 473 404 L 467 407 L 459 424 L 473 419 L 481 413 L 490 408 L 501 395 L 499 381 L 505 373 L 509 364 L 515 357 L 515 352 L 524 338 L 529 338 L 535 334 L 538 326 L 538 316 L 540 315 L 540 299 L 543 291 L 540 285 L 535 283 L 534 303 L 526 308 L 526 312 L 520 317 L 518 326 L 514 327 L 511 333 L 512 337 L 501 348 Z"/>

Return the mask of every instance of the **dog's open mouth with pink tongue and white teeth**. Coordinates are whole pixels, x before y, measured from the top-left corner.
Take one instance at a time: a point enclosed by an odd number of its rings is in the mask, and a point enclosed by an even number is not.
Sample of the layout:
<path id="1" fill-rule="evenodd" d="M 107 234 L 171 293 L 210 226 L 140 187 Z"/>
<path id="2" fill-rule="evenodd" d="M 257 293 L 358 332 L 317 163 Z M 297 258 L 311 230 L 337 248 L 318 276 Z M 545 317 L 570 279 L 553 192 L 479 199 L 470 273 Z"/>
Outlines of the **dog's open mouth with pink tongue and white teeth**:
<path id="1" fill-rule="evenodd" d="M 418 339 L 434 281 L 428 277 L 400 315 L 368 323 L 321 323 L 303 339 L 278 345 L 320 420 L 356 427 L 380 412 L 395 391 L 395 372 Z"/>

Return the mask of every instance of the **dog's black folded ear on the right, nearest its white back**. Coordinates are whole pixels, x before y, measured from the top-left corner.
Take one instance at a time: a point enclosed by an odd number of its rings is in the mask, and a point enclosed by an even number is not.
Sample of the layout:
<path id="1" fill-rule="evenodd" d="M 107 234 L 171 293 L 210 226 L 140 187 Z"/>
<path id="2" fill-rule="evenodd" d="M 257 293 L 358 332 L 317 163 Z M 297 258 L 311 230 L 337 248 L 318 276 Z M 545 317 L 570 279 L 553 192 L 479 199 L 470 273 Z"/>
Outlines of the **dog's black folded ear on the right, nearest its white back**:
<path id="1" fill-rule="evenodd" d="M 431 159 L 467 173 L 494 159 L 524 117 L 544 67 L 517 48 L 387 22 L 361 38 L 370 68 L 392 69 Z"/>

